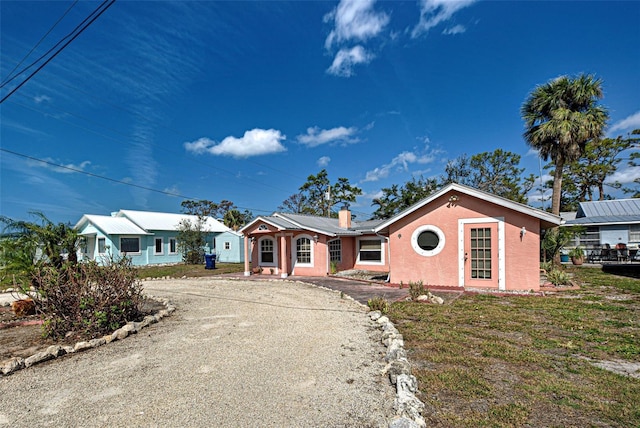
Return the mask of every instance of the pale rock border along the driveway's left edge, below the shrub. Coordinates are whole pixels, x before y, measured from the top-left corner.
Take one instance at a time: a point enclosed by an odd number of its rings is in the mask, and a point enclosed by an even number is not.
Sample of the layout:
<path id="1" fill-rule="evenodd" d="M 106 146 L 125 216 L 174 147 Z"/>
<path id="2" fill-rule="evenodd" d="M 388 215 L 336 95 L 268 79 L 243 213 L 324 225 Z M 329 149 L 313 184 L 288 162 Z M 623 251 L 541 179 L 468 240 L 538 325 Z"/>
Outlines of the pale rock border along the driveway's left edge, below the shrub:
<path id="1" fill-rule="evenodd" d="M 167 299 L 154 297 L 151 295 L 145 295 L 145 298 L 160 302 L 164 306 L 164 309 L 159 310 L 154 315 L 145 316 L 142 321 L 129 321 L 127 324 L 123 325 L 113 333 L 100 338 L 77 342 L 74 346 L 51 345 L 45 351 L 38 352 L 28 358 L 10 358 L 4 361 L 4 365 L 0 366 L 0 378 L 2 376 L 8 376 L 18 370 L 26 369 L 27 367 L 49 361 L 63 355 L 74 354 L 76 352 L 85 351 L 87 349 L 97 348 L 98 346 L 111 343 L 115 340 L 122 340 L 131 334 L 138 333 L 140 330 L 148 327 L 151 324 L 157 323 L 162 318 L 171 315 L 176 310 L 176 307 L 173 306 Z"/>

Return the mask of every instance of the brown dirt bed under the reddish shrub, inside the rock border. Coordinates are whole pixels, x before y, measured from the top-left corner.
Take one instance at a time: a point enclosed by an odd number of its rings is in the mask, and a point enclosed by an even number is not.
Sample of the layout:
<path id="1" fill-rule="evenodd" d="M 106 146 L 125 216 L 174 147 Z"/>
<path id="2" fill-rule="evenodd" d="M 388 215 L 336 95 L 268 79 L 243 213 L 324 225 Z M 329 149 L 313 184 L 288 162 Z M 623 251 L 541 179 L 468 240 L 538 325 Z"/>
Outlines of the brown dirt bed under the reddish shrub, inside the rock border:
<path id="1" fill-rule="evenodd" d="M 156 313 L 160 309 L 164 309 L 162 303 L 147 299 L 142 307 L 142 317 Z M 47 338 L 44 336 L 38 315 L 16 317 L 11 307 L 0 307 L 0 365 L 3 361 L 14 357 L 28 358 L 45 351 L 51 345 L 73 346 L 76 342 L 85 339 L 75 334 L 62 339 Z"/>

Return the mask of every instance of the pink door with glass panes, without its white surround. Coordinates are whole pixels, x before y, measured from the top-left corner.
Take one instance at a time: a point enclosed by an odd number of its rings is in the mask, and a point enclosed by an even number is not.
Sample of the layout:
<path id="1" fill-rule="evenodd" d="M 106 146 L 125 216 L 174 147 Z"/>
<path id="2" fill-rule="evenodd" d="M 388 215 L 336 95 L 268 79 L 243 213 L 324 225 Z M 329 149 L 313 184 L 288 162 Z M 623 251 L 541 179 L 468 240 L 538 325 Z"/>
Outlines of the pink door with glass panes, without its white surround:
<path id="1" fill-rule="evenodd" d="M 464 225 L 464 286 L 499 287 L 498 223 Z"/>

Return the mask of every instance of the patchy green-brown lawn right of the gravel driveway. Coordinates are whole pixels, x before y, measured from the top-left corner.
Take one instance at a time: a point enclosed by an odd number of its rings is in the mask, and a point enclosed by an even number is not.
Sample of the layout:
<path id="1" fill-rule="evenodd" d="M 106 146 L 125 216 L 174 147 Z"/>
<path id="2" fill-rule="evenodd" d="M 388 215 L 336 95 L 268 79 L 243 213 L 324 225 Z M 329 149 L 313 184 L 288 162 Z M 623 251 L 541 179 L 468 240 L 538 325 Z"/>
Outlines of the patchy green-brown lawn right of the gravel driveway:
<path id="1" fill-rule="evenodd" d="M 571 272 L 552 296 L 391 305 L 428 426 L 640 427 L 640 379 L 590 363 L 640 363 L 640 280 Z"/>

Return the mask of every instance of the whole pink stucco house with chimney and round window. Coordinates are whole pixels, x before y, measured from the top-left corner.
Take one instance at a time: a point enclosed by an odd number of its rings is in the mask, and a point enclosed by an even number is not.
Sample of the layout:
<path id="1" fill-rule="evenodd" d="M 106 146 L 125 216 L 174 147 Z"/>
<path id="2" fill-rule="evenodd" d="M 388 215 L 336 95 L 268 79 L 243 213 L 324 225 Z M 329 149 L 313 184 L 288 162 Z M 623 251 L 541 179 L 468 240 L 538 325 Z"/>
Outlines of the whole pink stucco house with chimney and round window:
<path id="1" fill-rule="evenodd" d="M 540 288 L 540 232 L 560 217 L 460 184 L 449 184 L 387 220 L 274 213 L 241 229 L 250 267 L 286 278 L 332 270 L 388 272 L 394 284 L 422 281 L 495 290 Z"/>

